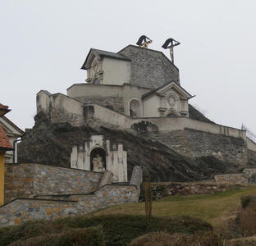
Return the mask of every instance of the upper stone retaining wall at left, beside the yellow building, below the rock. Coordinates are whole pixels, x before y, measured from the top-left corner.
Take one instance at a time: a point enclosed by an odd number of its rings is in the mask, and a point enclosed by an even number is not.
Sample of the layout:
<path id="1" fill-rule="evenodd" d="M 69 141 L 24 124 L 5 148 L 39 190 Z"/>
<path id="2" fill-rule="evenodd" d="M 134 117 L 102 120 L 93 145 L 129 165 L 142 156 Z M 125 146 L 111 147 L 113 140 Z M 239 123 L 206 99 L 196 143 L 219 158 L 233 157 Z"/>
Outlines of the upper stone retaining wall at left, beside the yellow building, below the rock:
<path id="1" fill-rule="evenodd" d="M 103 173 L 39 164 L 8 164 L 5 203 L 44 194 L 86 194 L 98 189 Z"/>

